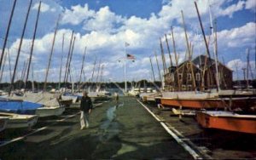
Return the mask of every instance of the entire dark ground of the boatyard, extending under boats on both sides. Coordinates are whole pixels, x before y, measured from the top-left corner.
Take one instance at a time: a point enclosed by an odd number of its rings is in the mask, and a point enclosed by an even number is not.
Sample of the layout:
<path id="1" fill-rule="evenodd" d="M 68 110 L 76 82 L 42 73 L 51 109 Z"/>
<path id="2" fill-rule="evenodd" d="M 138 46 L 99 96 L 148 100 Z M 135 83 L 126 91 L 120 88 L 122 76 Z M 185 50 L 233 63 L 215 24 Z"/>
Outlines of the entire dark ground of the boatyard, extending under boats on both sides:
<path id="1" fill-rule="evenodd" d="M 115 105 L 109 101 L 94 108 L 90 129 L 80 130 L 76 104 L 60 117 L 38 119 L 30 131 L 4 130 L 0 158 L 193 159 L 193 151 L 202 158 L 256 157 L 255 135 L 203 130 L 194 117 L 180 121 L 171 110 L 132 97 L 120 97 Z"/>

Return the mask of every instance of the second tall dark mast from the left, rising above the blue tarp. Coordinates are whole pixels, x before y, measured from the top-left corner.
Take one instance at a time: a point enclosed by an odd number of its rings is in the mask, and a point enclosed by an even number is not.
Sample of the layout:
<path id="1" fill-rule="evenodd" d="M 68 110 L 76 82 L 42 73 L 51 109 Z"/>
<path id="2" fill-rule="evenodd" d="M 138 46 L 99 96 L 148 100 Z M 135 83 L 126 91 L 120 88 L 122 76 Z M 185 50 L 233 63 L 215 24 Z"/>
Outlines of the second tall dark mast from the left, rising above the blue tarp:
<path id="1" fill-rule="evenodd" d="M 25 20 L 25 23 L 24 23 L 24 26 L 23 26 L 23 30 L 22 30 L 22 34 L 21 34 L 21 38 L 20 38 L 20 45 L 19 45 L 18 54 L 17 54 L 16 61 L 15 61 L 15 69 L 14 69 L 14 73 L 13 73 L 13 77 L 12 77 L 12 81 L 11 81 L 11 86 L 9 88 L 9 95 L 11 93 L 11 90 L 14 87 L 15 72 L 16 72 L 16 69 L 17 69 L 17 66 L 18 66 L 18 62 L 19 62 L 20 49 L 21 49 L 21 46 L 22 46 L 22 42 L 23 42 L 23 37 L 24 37 L 25 31 L 26 31 L 26 22 L 27 22 L 27 19 L 28 19 L 28 15 L 30 13 L 31 6 L 32 6 L 32 0 L 30 0 L 29 6 L 28 6 L 28 9 L 27 9 L 27 12 L 26 12 L 26 20 Z"/>

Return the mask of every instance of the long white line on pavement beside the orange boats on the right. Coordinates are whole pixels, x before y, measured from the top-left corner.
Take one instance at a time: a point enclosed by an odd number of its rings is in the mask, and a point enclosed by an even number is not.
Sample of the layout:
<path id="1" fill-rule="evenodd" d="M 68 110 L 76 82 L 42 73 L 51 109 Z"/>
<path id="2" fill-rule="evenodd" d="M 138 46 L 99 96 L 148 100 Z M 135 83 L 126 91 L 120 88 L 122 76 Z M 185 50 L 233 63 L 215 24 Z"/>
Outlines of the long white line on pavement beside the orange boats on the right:
<path id="1" fill-rule="evenodd" d="M 196 153 L 189 145 L 187 145 L 183 140 L 181 140 L 181 139 L 177 136 L 177 134 L 174 134 L 174 133 L 172 132 L 172 130 L 169 129 L 169 128 L 166 126 L 166 123 L 163 123 L 163 122 L 160 120 L 160 118 L 156 117 L 156 116 L 154 115 L 154 113 L 148 109 L 147 106 L 145 106 L 141 101 L 139 101 L 139 100 L 137 100 L 137 101 L 144 107 L 144 109 L 146 109 L 146 110 L 162 125 L 162 127 L 163 127 L 164 129 L 166 129 L 166 131 L 167 131 L 168 134 L 171 134 L 171 135 L 172 135 L 172 137 L 174 138 L 174 140 L 176 140 L 179 145 L 183 146 L 183 148 L 184 148 L 186 151 L 189 151 L 189 154 L 190 154 L 192 157 L 194 157 L 194 159 L 202 159 L 202 157 L 201 157 L 199 154 L 197 154 L 197 153 Z"/>

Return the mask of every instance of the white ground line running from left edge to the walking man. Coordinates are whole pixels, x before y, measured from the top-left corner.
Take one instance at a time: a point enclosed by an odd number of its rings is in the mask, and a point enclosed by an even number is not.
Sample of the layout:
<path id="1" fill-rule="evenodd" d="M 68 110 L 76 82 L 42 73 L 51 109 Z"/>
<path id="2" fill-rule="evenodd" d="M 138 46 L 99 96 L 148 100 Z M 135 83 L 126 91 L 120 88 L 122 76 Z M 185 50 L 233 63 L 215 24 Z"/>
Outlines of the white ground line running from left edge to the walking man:
<path id="1" fill-rule="evenodd" d="M 80 113 L 80 111 L 77 112 L 77 113 L 75 113 L 75 114 L 73 114 L 73 115 L 70 115 L 70 116 L 68 116 L 68 117 L 65 117 L 65 118 L 63 118 L 63 119 L 61 119 L 61 120 L 57 120 L 55 123 L 60 123 L 60 122 L 66 121 L 68 118 L 75 117 L 75 116 L 77 116 L 79 113 Z M 11 143 L 13 143 L 13 142 L 15 142 L 15 141 L 18 141 L 18 140 L 24 140 L 27 136 L 29 136 L 29 135 L 31 135 L 31 134 L 38 133 L 38 132 L 40 132 L 40 131 L 42 131 L 42 130 L 44 130 L 44 129 L 48 129 L 50 126 L 54 125 L 55 123 L 51 123 L 51 124 L 49 124 L 48 126 L 44 126 L 44 127 L 42 127 L 42 128 L 36 129 L 36 130 L 32 131 L 32 132 L 29 133 L 29 134 L 25 134 L 25 135 L 23 135 L 23 136 L 20 136 L 20 137 L 17 137 L 17 138 L 15 138 L 15 139 L 13 139 L 13 140 L 6 141 L 6 142 L 4 142 L 3 144 L 0 144 L 0 147 L 9 145 L 9 144 L 11 144 Z"/>

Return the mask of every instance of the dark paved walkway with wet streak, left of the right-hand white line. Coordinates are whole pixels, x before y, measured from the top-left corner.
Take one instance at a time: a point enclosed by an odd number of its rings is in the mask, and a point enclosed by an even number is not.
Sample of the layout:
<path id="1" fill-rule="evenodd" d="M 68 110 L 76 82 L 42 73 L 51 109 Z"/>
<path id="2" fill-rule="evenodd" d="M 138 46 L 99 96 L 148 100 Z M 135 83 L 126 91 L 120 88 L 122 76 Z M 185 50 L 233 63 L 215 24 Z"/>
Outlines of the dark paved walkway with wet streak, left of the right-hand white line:
<path id="1" fill-rule="evenodd" d="M 120 98 L 96 107 L 90 117 L 90 129 L 79 129 L 78 112 L 67 111 L 62 117 L 40 121 L 35 129 L 49 126 L 9 145 L 0 147 L 2 159 L 192 159 L 154 117 L 136 99 Z M 25 133 L 4 132 L 1 140 Z"/>

